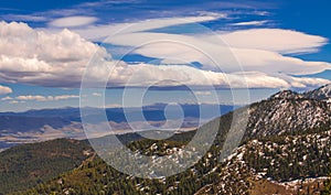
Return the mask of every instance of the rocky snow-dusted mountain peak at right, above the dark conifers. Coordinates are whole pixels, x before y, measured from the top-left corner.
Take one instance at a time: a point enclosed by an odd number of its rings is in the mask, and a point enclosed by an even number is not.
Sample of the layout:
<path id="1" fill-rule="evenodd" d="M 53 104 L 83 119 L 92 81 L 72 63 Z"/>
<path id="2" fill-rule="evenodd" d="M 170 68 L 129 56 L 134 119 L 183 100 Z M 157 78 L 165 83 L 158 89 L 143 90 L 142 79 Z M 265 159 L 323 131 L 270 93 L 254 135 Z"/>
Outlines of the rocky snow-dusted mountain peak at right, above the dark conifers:
<path id="1" fill-rule="evenodd" d="M 290 90 L 253 104 L 246 136 L 249 138 L 286 134 L 330 127 L 331 105 Z"/>

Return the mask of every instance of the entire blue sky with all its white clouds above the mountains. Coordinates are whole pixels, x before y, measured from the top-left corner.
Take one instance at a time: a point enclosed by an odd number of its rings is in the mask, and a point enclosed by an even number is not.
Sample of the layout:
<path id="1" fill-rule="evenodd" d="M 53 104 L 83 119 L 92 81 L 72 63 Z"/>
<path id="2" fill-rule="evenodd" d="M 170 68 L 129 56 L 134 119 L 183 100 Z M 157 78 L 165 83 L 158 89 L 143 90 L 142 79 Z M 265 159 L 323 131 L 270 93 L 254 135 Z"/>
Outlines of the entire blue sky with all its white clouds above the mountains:
<path id="1" fill-rule="evenodd" d="M 323 0 L 0 4 L 0 111 L 243 105 L 331 78 Z"/>

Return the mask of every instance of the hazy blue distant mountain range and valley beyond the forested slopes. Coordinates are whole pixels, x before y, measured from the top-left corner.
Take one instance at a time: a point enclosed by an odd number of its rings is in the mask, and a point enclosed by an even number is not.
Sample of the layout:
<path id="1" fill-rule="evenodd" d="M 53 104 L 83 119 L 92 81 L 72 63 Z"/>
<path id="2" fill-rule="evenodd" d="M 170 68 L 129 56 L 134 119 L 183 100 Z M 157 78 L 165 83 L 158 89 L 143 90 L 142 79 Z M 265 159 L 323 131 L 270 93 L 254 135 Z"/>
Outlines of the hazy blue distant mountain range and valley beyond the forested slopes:
<path id="1" fill-rule="evenodd" d="M 142 108 L 143 117 L 154 126 L 162 124 L 166 120 L 166 104 L 156 104 Z M 181 105 L 184 112 L 184 122 L 182 128 L 190 129 L 199 126 L 200 108 L 205 110 L 215 110 L 210 108 L 220 107 L 222 115 L 232 111 L 238 106 L 227 105 Z M 99 108 L 84 108 L 88 110 L 87 117 L 99 120 Z M 127 132 L 130 127 L 127 123 L 126 115 L 130 115 L 130 122 L 136 124 L 141 122 L 139 115 L 141 108 L 107 108 L 105 109 L 108 121 L 114 131 Z M 168 110 L 169 111 L 169 110 Z M 175 110 L 174 110 L 175 111 Z M 170 116 L 171 110 L 170 110 Z M 202 116 L 202 120 L 207 121 L 218 117 L 220 113 L 207 112 Z M 118 131 L 116 131 L 118 132 Z M 0 150 L 18 143 L 31 143 L 45 141 L 55 138 L 75 138 L 86 139 L 81 123 L 79 108 L 58 108 L 29 110 L 24 112 L 0 112 Z"/>

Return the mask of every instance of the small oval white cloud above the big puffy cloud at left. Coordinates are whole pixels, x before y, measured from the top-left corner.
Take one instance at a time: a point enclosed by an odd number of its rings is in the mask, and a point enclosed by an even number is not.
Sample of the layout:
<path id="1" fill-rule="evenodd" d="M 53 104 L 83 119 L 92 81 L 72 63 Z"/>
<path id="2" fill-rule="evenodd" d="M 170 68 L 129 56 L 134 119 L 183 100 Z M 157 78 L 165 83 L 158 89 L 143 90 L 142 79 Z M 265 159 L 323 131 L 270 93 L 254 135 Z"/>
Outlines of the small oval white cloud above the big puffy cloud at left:
<path id="1" fill-rule="evenodd" d="M 98 19 L 95 17 L 66 17 L 56 19 L 49 24 L 55 28 L 76 28 L 76 26 L 83 26 L 88 25 L 94 22 L 96 22 Z"/>

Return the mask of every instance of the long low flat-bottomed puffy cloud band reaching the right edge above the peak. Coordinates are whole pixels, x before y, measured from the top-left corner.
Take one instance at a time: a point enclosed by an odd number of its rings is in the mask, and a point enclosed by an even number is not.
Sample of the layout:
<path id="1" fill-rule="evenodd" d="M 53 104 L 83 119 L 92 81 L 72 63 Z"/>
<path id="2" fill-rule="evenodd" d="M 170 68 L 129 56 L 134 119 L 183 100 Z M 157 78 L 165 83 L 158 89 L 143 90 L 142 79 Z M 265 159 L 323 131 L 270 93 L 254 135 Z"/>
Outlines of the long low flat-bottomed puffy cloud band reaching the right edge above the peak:
<path id="1" fill-rule="evenodd" d="M 108 72 L 90 69 L 90 77 L 98 75 L 105 79 L 109 76 L 108 87 L 175 87 L 186 85 L 190 87 L 216 87 L 216 88 L 290 88 L 290 87 L 318 87 L 330 83 L 320 78 L 293 78 L 281 74 L 269 75 L 260 72 L 217 73 L 197 69 L 184 65 L 108 65 Z M 111 73 L 110 75 L 106 73 Z M 105 80 L 107 82 L 107 80 Z M 299 86 L 301 85 L 301 86 Z"/>

